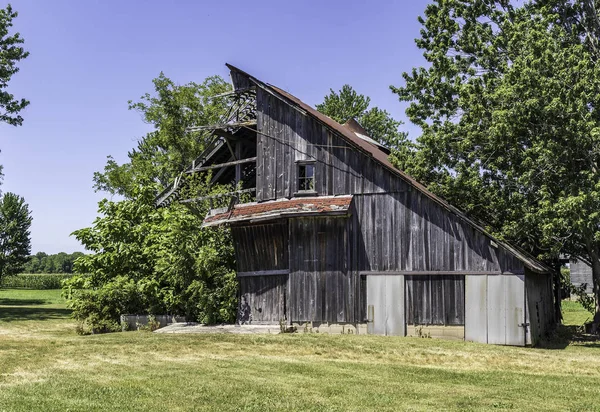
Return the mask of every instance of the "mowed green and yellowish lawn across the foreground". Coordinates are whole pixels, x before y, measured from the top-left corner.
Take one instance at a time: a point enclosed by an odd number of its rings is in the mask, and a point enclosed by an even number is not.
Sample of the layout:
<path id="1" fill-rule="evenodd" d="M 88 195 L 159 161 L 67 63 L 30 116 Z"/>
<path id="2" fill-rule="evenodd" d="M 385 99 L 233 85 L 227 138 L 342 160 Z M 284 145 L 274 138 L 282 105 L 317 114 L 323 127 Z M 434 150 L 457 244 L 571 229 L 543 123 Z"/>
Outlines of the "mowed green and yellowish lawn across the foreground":
<path id="1" fill-rule="evenodd" d="M 78 336 L 58 291 L 0 290 L 0 410 L 598 410 L 600 344 L 356 335 Z"/>

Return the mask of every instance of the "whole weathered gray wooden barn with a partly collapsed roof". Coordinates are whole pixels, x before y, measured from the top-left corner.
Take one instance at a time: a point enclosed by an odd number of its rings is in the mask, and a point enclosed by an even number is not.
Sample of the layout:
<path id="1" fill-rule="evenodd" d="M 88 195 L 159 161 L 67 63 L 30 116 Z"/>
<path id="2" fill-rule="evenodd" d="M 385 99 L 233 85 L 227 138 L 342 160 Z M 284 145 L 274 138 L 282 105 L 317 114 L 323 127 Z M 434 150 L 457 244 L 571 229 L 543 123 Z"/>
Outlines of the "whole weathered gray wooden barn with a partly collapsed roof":
<path id="1" fill-rule="evenodd" d="M 553 325 L 548 267 L 396 169 L 358 123 L 228 67 L 230 113 L 203 128 L 213 143 L 185 172 L 253 197 L 204 223 L 231 227 L 238 322 L 503 345 Z"/>

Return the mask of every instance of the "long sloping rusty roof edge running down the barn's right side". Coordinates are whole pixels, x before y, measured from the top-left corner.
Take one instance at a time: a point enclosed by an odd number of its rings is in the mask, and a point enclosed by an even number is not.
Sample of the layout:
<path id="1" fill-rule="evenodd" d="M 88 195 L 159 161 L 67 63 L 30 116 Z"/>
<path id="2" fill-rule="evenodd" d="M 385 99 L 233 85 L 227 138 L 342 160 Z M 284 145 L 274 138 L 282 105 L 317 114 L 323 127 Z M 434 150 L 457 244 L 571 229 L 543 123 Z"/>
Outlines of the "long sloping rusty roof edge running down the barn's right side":
<path id="1" fill-rule="evenodd" d="M 523 264 L 527 268 L 531 269 L 534 272 L 538 272 L 538 273 L 551 273 L 552 272 L 552 269 L 550 269 L 548 266 L 546 266 L 539 260 L 535 259 L 533 256 L 531 256 L 529 253 L 522 250 L 518 246 L 513 245 L 509 242 L 505 242 L 505 241 L 496 239 L 489 232 L 487 232 L 481 224 L 476 222 L 474 219 L 468 217 L 466 214 L 464 214 L 458 208 L 452 206 L 451 204 L 449 204 L 442 198 L 440 198 L 440 197 L 436 196 L 435 194 L 433 194 L 432 192 L 430 192 L 425 186 L 423 186 L 421 183 L 417 182 L 412 176 L 409 176 L 404 171 L 394 167 L 394 165 L 389 161 L 386 153 L 384 153 L 382 150 L 380 150 L 379 147 L 377 147 L 376 145 L 369 143 L 367 140 L 358 137 L 350 127 L 346 127 L 344 125 L 339 124 L 338 122 L 331 119 L 330 117 L 325 116 L 321 112 L 317 111 L 316 109 L 314 109 L 311 106 L 307 105 L 306 103 L 302 102 L 297 97 L 289 94 L 288 92 L 286 92 L 276 86 L 273 86 L 268 83 L 264 83 L 264 82 L 258 80 L 257 78 L 255 78 L 254 76 L 252 76 L 252 75 L 244 72 L 243 70 L 240 70 L 237 67 L 234 67 L 230 64 L 226 64 L 226 66 L 231 71 L 237 72 L 237 74 L 247 76 L 257 86 L 259 86 L 259 87 L 263 88 L 264 90 L 266 90 L 267 92 L 279 97 L 281 100 L 287 102 L 288 104 L 292 105 L 293 107 L 302 109 L 309 116 L 317 119 L 319 122 L 321 122 L 323 125 L 325 125 L 328 129 L 330 129 L 331 131 L 333 131 L 336 134 L 338 134 L 339 136 L 341 136 L 349 144 L 351 144 L 358 150 L 362 151 L 367 156 L 370 156 L 374 161 L 380 163 L 381 165 L 383 165 L 386 169 L 388 169 L 392 173 L 396 174 L 398 177 L 403 179 L 405 182 L 407 182 L 409 185 L 411 185 L 416 190 L 421 192 L 423 195 L 427 196 L 429 199 L 431 199 L 435 203 L 439 204 L 442 208 L 453 213 L 454 215 L 459 217 L 461 220 L 463 220 L 464 222 L 469 224 L 471 227 L 473 227 L 477 231 L 481 232 L 482 234 L 487 236 L 489 239 L 493 240 L 498 245 L 500 245 L 501 247 L 506 249 L 509 253 L 513 254 L 520 261 L 522 261 Z"/>

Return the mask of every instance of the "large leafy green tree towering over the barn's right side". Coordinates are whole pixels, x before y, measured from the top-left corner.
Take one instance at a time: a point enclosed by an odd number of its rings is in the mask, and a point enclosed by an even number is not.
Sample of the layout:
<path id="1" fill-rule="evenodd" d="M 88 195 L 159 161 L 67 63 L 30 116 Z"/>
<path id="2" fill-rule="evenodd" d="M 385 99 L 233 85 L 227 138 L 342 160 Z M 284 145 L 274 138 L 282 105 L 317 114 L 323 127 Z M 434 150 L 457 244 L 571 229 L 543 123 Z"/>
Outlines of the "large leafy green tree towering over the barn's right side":
<path id="1" fill-rule="evenodd" d="M 600 322 L 600 24 L 593 0 L 436 1 L 428 65 L 392 87 L 423 133 L 408 172 L 540 258 L 589 262 Z"/>

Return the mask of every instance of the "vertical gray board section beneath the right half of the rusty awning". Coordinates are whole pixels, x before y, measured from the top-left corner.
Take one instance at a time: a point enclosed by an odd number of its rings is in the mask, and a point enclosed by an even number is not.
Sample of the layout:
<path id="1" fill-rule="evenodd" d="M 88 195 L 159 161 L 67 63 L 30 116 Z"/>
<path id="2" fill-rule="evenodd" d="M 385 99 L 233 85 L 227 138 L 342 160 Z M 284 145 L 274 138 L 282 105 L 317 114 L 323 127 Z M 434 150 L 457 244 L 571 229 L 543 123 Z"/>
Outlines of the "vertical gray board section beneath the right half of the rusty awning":
<path id="1" fill-rule="evenodd" d="M 290 219 L 289 319 L 354 322 L 357 277 L 348 271 L 348 219 Z"/>

